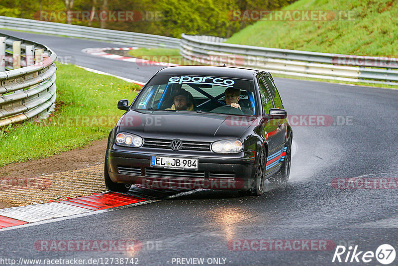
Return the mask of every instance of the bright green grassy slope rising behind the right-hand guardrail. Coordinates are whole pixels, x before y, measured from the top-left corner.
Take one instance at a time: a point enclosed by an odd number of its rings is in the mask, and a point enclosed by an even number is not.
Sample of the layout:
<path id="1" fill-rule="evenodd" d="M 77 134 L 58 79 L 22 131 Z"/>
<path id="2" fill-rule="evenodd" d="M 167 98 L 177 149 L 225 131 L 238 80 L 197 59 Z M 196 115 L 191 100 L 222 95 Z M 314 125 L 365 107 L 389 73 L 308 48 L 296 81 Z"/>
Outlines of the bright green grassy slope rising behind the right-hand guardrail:
<path id="1" fill-rule="evenodd" d="M 354 20 L 257 21 L 227 43 L 398 57 L 398 1 L 298 0 L 285 10 L 352 10 Z"/>

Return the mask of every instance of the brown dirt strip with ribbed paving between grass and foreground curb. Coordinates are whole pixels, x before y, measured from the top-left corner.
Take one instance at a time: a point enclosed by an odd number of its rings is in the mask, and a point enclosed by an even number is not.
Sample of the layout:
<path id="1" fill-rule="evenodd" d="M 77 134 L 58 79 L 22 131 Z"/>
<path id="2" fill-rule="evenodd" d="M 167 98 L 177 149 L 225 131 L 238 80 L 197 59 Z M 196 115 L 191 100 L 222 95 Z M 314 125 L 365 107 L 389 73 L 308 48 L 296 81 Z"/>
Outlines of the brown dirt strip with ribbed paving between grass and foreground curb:
<path id="1" fill-rule="evenodd" d="M 107 138 L 93 141 L 82 149 L 74 149 L 39 160 L 11 163 L 0 167 L 0 180 L 2 182 L 0 186 L 0 194 L 4 195 L 4 197 L 0 197 L 0 208 L 26 205 L 33 202 L 48 202 L 50 199 L 56 199 L 57 197 L 83 196 L 104 191 L 102 181 L 103 170 L 101 169 L 103 169 L 106 144 Z M 57 178 L 60 178 L 60 173 L 70 171 L 70 174 L 75 175 L 77 178 L 82 178 L 82 176 L 79 176 L 80 174 L 77 174 L 74 170 L 93 170 L 92 167 L 95 168 L 95 171 L 89 171 L 89 175 L 94 179 L 90 179 L 90 181 L 98 183 L 98 185 L 96 184 L 93 189 L 90 189 L 90 184 L 85 182 L 80 184 L 80 182 L 76 182 L 78 180 L 71 180 L 72 182 L 70 185 L 68 182 L 63 182 L 62 184 L 64 187 L 62 190 L 65 190 L 65 193 L 61 194 L 59 194 L 59 188 L 54 187 L 54 184 L 56 183 L 53 182 L 50 187 L 47 187 L 48 180 L 51 181 L 54 174 L 56 174 Z M 80 172 L 82 171 L 78 171 L 78 173 Z M 83 175 L 85 174 L 86 173 Z M 88 176 L 83 177 L 83 179 L 87 177 Z M 73 189 L 79 189 L 79 185 L 84 187 L 84 189 L 81 190 L 81 193 L 72 193 Z M 72 189 L 71 193 L 67 193 L 68 189 Z M 29 199 L 24 200 L 21 198 L 22 195 L 29 197 L 29 193 L 26 194 L 26 191 L 31 191 L 32 195 L 33 193 L 44 193 L 46 196 L 43 200 L 39 200 L 39 202 L 30 201 Z M 34 198 L 37 197 L 35 196 Z"/>

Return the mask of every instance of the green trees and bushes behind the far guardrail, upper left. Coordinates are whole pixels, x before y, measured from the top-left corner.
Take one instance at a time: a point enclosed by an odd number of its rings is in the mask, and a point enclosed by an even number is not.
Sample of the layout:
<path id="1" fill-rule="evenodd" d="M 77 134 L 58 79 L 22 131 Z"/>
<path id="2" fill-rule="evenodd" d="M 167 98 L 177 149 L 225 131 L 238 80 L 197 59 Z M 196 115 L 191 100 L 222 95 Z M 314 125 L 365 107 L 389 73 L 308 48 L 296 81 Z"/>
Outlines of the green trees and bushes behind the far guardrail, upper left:
<path id="1" fill-rule="evenodd" d="M 292 0 L 112 0 L 103 6 L 103 0 L 75 0 L 72 11 L 133 11 L 134 21 L 110 19 L 101 25 L 99 19 L 93 27 L 159 34 L 179 38 L 181 33 L 230 37 L 252 21 L 232 20 L 231 13 L 238 9 L 280 8 Z M 66 23 L 60 15 L 66 7 L 63 0 L 1 0 L 0 14 L 13 17 L 49 20 Z M 40 13 L 40 11 L 42 11 Z M 87 19 L 73 15 L 72 24 L 88 26 Z"/>

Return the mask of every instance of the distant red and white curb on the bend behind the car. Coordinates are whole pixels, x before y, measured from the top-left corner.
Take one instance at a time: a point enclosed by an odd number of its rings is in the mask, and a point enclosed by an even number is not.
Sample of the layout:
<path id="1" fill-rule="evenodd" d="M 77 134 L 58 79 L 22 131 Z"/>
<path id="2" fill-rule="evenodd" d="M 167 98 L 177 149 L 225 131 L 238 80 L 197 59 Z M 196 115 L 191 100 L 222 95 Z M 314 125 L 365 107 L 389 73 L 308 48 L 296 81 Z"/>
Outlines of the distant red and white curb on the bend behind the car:
<path id="1" fill-rule="evenodd" d="M 138 47 L 86 48 L 86 49 L 83 49 L 82 52 L 88 53 L 91 55 L 95 55 L 95 56 L 101 56 L 103 58 L 132 62 L 132 63 L 140 64 L 142 66 L 164 66 L 164 67 L 178 66 L 177 64 L 172 64 L 172 63 L 155 62 L 155 61 L 151 61 L 151 60 L 145 60 L 145 59 L 140 59 L 140 58 L 135 58 L 135 57 L 127 57 L 127 56 L 110 54 L 110 53 L 105 52 L 108 50 L 136 50 L 136 49 L 138 49 Z"/>

